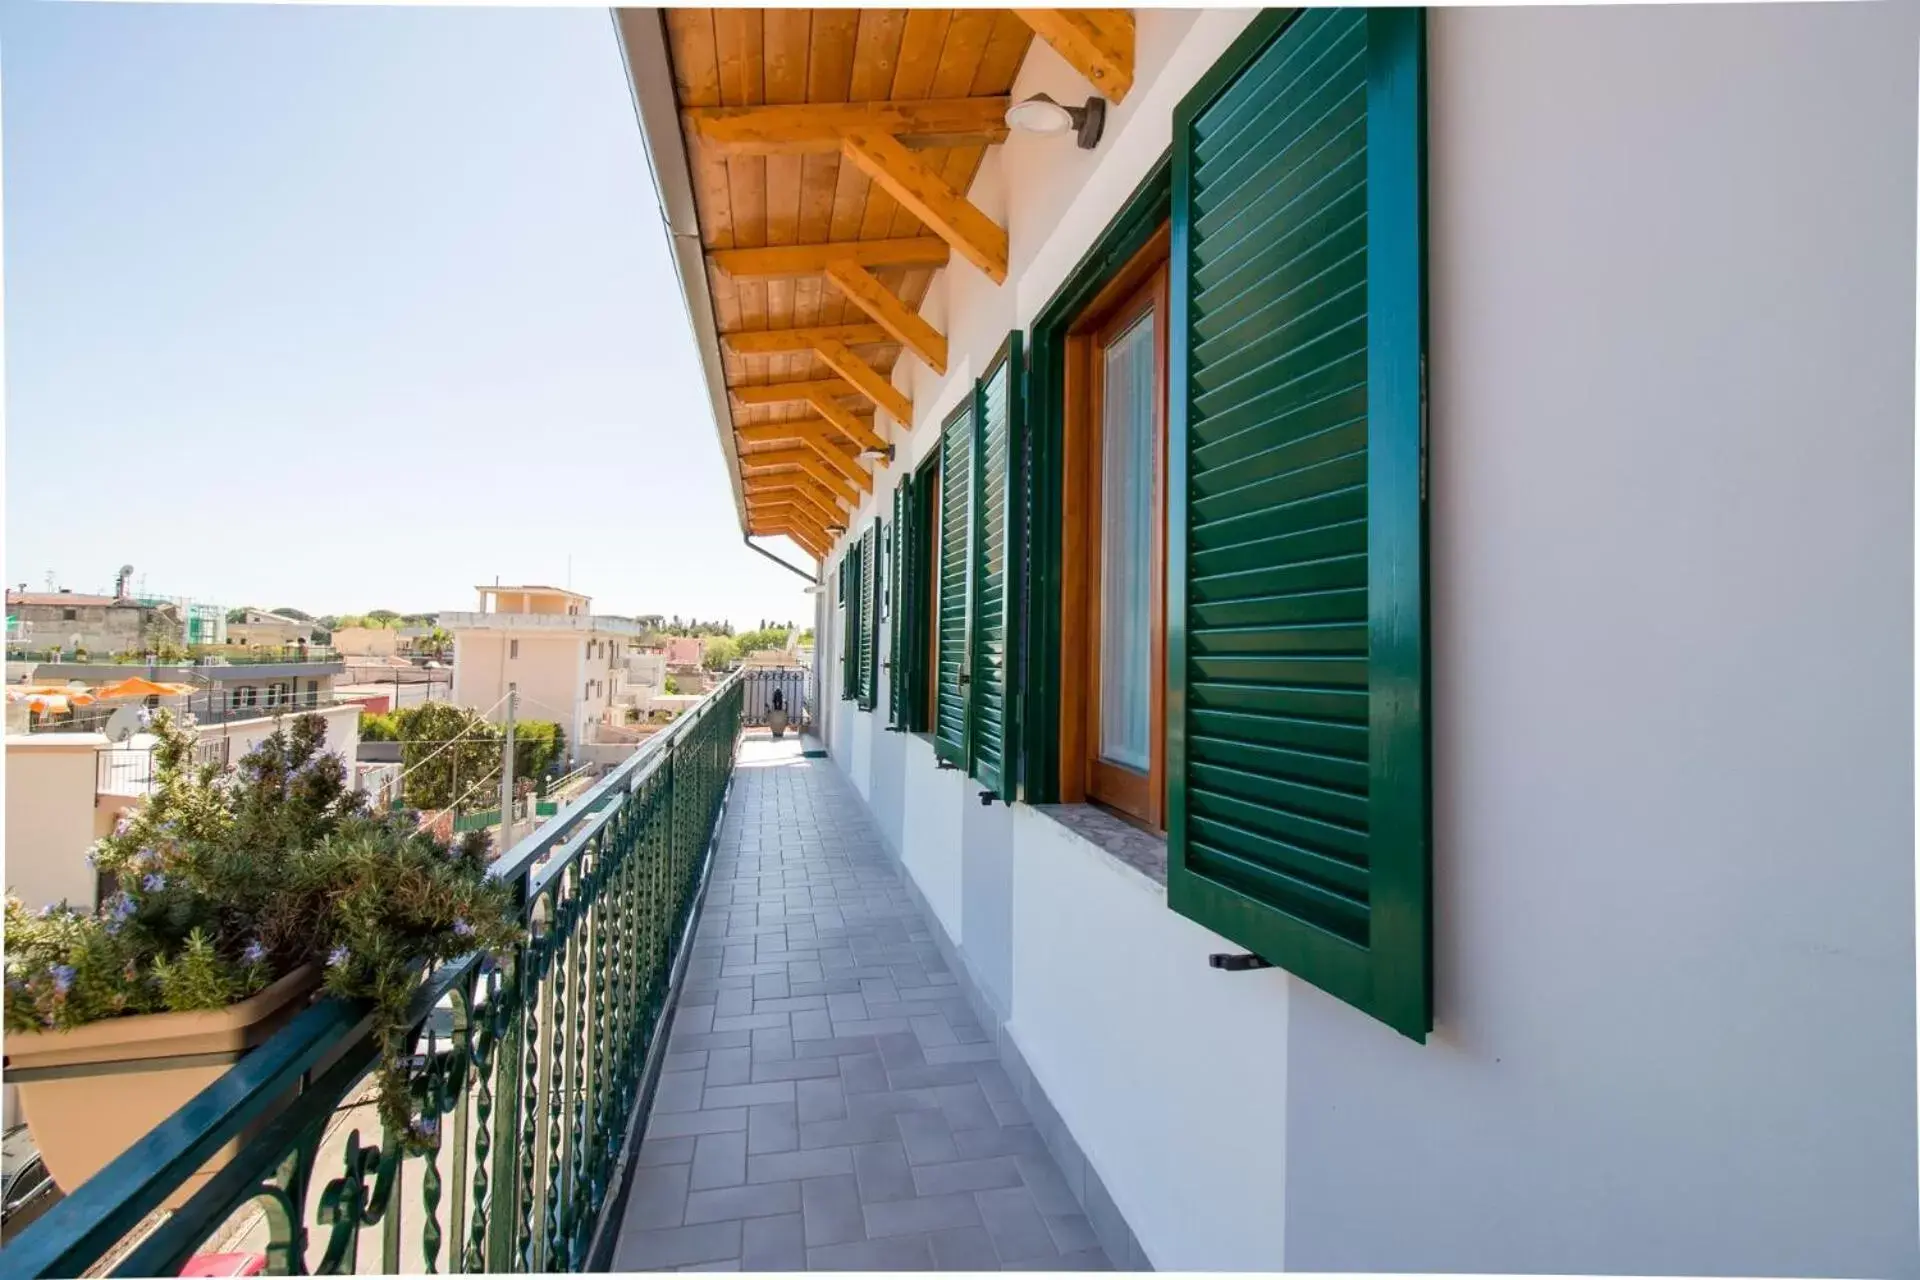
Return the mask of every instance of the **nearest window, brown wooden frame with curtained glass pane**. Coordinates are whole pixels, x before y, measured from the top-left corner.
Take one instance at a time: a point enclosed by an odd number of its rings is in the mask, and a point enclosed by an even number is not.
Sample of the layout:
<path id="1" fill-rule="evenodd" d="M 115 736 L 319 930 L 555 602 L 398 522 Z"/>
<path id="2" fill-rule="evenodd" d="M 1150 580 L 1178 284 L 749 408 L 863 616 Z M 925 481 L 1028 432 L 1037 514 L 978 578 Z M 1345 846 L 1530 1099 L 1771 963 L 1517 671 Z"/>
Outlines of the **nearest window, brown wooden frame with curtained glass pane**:
<path id="1" fill-rule="evenodd" d="M 1075 317 L 1062 415 L 1062 798 L 1165 814 L 1167 228 Z"/>

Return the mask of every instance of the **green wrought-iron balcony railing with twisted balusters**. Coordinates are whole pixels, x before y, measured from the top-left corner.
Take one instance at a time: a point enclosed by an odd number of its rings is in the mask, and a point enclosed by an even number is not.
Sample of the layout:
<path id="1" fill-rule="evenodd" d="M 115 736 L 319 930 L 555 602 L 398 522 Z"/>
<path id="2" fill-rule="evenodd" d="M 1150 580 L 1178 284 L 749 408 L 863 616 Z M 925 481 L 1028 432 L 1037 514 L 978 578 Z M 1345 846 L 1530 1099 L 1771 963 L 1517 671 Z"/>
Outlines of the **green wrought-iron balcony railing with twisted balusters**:
<path id="1" fill-rule="evenodd" d="M 603 1270 L 741 722 L 728 679 L 495 864 L 530 940 L 426 975 L 424 1153 L 371 1105 L 365 1006 L 321 1000 L 0 1251 L 0 1278 Z M 154 1226 L 209 1155 L 238 1153 Z"/>

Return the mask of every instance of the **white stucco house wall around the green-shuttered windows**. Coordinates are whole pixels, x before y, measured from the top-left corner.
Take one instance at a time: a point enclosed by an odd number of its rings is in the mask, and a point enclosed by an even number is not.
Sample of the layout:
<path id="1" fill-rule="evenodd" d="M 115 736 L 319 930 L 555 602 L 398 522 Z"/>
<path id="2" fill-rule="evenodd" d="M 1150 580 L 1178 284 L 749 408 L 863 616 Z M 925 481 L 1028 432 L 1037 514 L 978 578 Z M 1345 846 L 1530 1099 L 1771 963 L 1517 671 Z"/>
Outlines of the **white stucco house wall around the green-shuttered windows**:
<path id="1" fill-rule="evenodd" d="M 900 858 L 970 961 L 1010 921 L 1010 1034 L 1156 1267 L 1920 1274 L 1914 12 L 1430 15 L 1427 1046 L 1208 969 L 1240 948 L 902 743 Z M 900 361 L 851 530 L 1250 17 L 1139 12 L 1098 152 L 989 154 L 1010 282 L 935 280 L 950 372 Z M 1039 90 L 1087 94 L 1041 44 Z M 883 706 L 835 714 L 866 791 Z"/>

